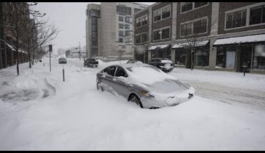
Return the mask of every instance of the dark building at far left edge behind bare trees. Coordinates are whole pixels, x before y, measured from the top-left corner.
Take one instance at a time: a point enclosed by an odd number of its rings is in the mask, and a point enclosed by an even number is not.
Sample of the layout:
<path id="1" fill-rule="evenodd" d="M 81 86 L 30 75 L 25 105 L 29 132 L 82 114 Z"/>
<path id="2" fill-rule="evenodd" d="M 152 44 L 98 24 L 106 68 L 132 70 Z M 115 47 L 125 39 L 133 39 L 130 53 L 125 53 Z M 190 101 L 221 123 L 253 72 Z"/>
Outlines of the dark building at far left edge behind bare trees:
<path id="1" fill-rule="evenodd" d="M 14 7 L 16 5 L 17 7 Z M 8 24 L 11 21 L 14 22 L 12 18 L 12 13 L 17 12 L 16 9 L 20 9 L 20 11 L 28 10 L 29 6 L 26 2 L 20 2 L 14 4 L 13 2 L 1 2 L 0 3 L 0 69 L 5 68 L 11 65 L 15 65 L 17 54 L 15 49 L 15 44 L 17 42 L 14 32 L 10 29 Z M 29 19 L 30 22 L 34 22 L 31 20 L 28 15 L 22 15 L 22 13 L 17 13 L 19 17 L 23 17 L 23 19 Z M 34 36 L 34 35 L 33 35 Z M 18 40 L 19 49 L 18 49 L 18 56 L 19 56 L 19 63 L 24 63 L 28 61 L 28 54 L 27 51 L 24 51 L 22 48 L 26 48 L 24 46 L 24 40 L 19 38 Z"/>

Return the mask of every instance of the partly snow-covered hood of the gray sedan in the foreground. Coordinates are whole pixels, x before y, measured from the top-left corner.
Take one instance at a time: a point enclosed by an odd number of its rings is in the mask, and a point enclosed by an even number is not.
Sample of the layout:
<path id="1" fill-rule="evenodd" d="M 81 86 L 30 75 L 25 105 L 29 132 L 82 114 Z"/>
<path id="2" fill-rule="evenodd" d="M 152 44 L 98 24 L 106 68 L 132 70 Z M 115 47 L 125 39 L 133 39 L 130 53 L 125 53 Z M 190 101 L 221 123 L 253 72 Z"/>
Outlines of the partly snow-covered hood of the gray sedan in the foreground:
<path id="1" fill-rule="evenodd" d="M 181 90 L 188 90 L 190 86 L 187 83 L 182 83 L 181 81 L 174 79 L 164 79 L 163 81 L 157 81 L 152 84 L 145 84 L 149 92 L 159 92 L 159 93 L 168 93 L 168 92 L 177 92 Z"/>

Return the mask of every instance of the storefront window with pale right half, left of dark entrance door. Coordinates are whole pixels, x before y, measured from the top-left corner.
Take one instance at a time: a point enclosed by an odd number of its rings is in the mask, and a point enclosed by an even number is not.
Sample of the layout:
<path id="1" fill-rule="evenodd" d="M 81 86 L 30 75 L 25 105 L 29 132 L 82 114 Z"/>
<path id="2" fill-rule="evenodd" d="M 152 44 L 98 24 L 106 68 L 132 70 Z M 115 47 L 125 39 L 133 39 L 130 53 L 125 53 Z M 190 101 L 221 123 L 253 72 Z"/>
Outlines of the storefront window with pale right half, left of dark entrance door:
<path id="1" fill-rule="evenodd" d="M 217 47 L 216 67 L 234 68 L 236 57 L 236 46 Z"/>

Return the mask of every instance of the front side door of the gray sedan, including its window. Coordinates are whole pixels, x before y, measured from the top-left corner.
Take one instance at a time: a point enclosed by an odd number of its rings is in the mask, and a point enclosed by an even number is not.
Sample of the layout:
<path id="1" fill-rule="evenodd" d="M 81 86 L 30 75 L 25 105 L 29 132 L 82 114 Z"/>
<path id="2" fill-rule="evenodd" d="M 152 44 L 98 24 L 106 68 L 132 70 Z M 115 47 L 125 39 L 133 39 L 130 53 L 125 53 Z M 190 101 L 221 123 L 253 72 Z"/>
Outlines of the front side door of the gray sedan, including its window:
<path id="1" fill-rule="evenodd" d="M 122 67 L 117 66 L 115 77 L 114 77 L 114 83 L 116 84 L 114 86 L 116 92 L 123 96 L 128 97 L 130 94 L 131 87 L 126 83 L 126 78 L 128 77 L 128 74 L 125 70 L 123 70 Z"/>

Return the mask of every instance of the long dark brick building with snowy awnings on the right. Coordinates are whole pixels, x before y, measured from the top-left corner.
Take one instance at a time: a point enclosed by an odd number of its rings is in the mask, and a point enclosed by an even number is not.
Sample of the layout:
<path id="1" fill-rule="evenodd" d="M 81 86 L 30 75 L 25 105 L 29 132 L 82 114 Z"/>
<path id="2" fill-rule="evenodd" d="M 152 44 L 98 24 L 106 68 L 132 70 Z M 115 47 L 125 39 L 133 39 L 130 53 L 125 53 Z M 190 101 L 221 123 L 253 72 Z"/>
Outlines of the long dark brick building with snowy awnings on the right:
<path id="1" fill-rule="evenodd" d="M 198 69 L 242 72 L 247 67 L 265 73 L 264 17 L 264 2 L 154 3 L 134 15 L 135 58 L 164 57 L 179 67 L 193 63 Z"/>

